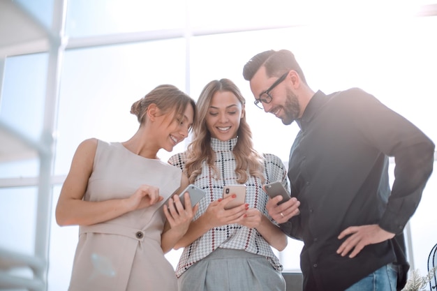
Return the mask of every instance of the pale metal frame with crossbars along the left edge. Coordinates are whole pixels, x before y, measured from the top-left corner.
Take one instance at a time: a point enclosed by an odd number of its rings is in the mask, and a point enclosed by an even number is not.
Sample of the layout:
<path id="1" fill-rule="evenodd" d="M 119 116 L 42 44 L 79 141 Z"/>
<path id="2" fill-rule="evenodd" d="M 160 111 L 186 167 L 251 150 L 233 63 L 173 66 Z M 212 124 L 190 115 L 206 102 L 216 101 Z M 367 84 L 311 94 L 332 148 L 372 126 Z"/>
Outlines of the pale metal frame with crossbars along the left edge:
<path id="1" fill-rule="evenodd" d="M 11 10 L 19 9 L 26 14 L 24 8 L 16 2 L 6 3 Z M 19 252 L 0 248 L 0 289 L 27 289 L 31 291 L 47 290 L 47 271 L 49 258 L 49 239 L 50 224 L 52 213 L 52 168 L 54 160 L 54 130 L 56 124 L 57 101 L 59 96 L 59 77 L 61 59 L 64 52 L 62 47 L 62 34 L 64 31 L 64 20 L 66 15 L 66 3 L 64 0 L 54 1 L 52 28 L 46 31 L 48 40 L 48 64 L 47 64 L 47 83 L 45 91 L 45 108 L 43 130 L 40 140 L 34 141 L 26 135 L 17 132 L 8 124 L 0 119 L 0 133 L 3 142 L 13 144 L 13 147 L 21 149 L 21 156 L 38 156 L 40 161 L 39 175 L 24 184 L 32 184 L 38 187 L 37 211 L 36 211 L 36 232 L 34 255 L 24 255 Z M 27 15 L 36 22 L 34 17 Z M 41 26 L 40 26 L 41 27 Z M 34 40 L 32 40 L 34 41 Z M 44 43 L 43 48 L 44 48 Z M 38 46 L 37 46 L 38 47 Z M 40 52 L 40 48 L 36 49 Z M 17 53 L 22 53 L 17 50 Z M 35 53 L 35 52 L 27 52 Z M 9 56 L 9 55 L 8 55 Z M 0 56 L 0 94 L 3 84 L 3 74 L 5 69 L 6 56 Z M 0 95 L 1 96 L 1 95 Z M 0 99 L 1 100 L 1 99 Z M 20 151 L 20 150 L 19 150 Z M 20 152 L 17 153 L 20 156 Z M 8 155 L 6 153 L 5 155 Z M 7 158 L 7 156 L 6 156 Z M 10 188 L 12 186 L 22 186 L 22 183 L 14 185 L 10 179 L 0 179 L 0 188 Z M 15 274 L 14 269 L 30 269 L 33 278 L 27 278 Z"/>

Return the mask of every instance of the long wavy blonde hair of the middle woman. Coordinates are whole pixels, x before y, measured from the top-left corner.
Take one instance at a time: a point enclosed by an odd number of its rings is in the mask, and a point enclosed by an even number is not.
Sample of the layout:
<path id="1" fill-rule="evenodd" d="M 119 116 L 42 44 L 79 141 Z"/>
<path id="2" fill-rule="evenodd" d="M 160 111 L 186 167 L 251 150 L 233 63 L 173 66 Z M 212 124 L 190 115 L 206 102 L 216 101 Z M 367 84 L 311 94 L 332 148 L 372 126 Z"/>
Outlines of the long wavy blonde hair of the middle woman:
<path id="1" fill-rule="evenodd" d="M 202 172 L 203 161 L 206 161 L 206 163 L 212 167 L 215 177 L 219 177 L 220 175 L 215 166 L 216 156 L 211 147 L 211 133 L 209 133 L 206 122 L 206 116 L 209 111 L 209 105 L 212 102 L 212 97 L 219 91 L 228 91 L 234 94 L 239 102 L 242 103 L 243 108 L 246 103 L 246 100 L 238 87 L 231 80 L 213 80 L 203 88 L 196 103 L 198 108 L 198 118 L 193 125 L 193 141 L 188 145 L 187 149 L 185 168 L 186 174 L 191 183 L 193 183 L 195 178 Z M 263 183 L 265 181 L 265 178 L 262 175 L 264 158 L 258 153 L 258 151 L 253 149 L 252 131 L 249 124 L 247 124 L 246 114 L 242 115 L 237 130 L 237 136 L 237 144 L 233 149 L 233 154 L 237 163 L 235 168 L 238 177 L 237 182 L 239 184 L 244 184 L 248 179 L 247 172 L 249 171 L 251 176 L 260 178 Z"/>

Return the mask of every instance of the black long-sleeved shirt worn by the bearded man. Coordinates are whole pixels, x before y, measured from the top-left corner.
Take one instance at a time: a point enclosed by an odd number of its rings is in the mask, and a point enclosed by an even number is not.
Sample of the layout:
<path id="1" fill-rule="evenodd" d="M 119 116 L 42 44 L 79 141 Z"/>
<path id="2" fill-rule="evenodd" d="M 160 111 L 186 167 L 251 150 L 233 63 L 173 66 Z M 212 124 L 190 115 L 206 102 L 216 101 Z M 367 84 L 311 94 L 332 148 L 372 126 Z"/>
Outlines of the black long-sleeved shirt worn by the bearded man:
<path id="1" fill-rule="evenodd" d="M 390 262 L 406 271 L 397 239 L 431 175 L 433 142 L 361 89 L 329 96 L 318 91 L 297 124 L 301 130 L 290 150 L 288 177 L 300 215 L 281 229 L 304 241 L 304 290 L 345 290 Z M 389 156 L 395 159 L 391 189 Z M 371 224 L 399 235 L 366 246 L 352 259 L 336 253 L 343 230 Z M 399 275 L 405 281 L 405 274 Z"/>

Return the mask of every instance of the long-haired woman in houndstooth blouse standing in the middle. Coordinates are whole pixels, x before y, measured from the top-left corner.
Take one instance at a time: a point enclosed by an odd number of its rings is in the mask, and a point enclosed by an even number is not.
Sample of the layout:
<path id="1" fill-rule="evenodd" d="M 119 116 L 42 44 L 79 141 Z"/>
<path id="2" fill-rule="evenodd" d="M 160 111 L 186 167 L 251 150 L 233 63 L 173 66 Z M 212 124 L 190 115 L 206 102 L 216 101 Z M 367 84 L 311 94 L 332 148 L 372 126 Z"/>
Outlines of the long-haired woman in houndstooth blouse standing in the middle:
<path id="1" fill-rule="evenodd" d="M 287 188 L 286 170 L 279 157 L 253 149 L 244 103 L 232 81 L 209 82 L 198 98 L 193 141 L 169 160 L 207 193 L 175 246 L 184 247 L 176 270 L 181 291 L 286 290 L 272 246 L 282 251 L 287 238 L 268 216 L 262 190 L 272 181 Z M 225 209 L 234 197 L 222 199 L 223 187 L 235 184 L 246 185 L 246 202 Z"/>

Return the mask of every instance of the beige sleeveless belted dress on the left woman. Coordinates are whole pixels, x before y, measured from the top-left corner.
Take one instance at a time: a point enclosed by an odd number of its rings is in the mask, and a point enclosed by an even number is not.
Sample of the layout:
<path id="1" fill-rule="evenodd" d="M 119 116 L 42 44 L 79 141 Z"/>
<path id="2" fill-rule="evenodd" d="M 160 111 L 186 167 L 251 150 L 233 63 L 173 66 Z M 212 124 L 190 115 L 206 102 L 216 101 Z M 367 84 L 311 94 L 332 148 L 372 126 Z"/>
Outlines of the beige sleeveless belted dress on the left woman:
<path id="1" fill-rule="evenodd" d="M 81 226 L 68 290 L 176 291 L 175 271 L 161 249 L 162 205 L 181 178 L 177 167 L 133 154 L 119 142 L 98 140 L 84 200 L 128 197 L 141 184 L 157 186 L 164 199 L 105 223 Z"/>

